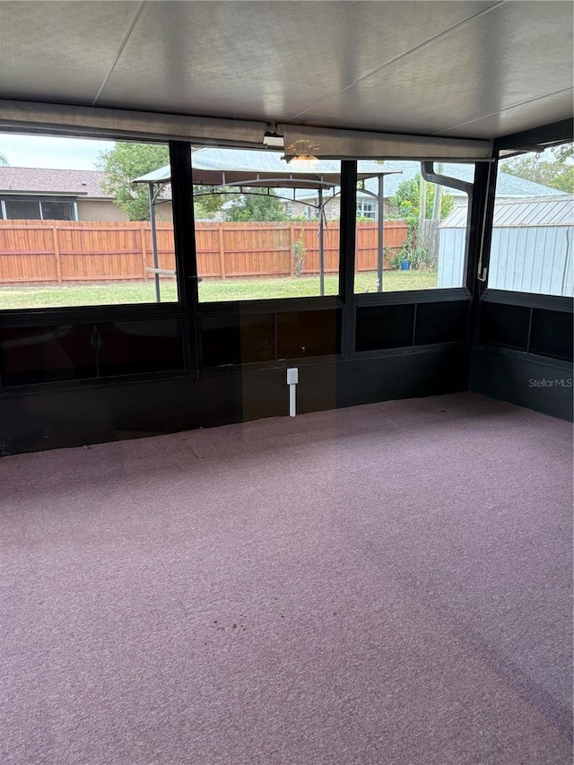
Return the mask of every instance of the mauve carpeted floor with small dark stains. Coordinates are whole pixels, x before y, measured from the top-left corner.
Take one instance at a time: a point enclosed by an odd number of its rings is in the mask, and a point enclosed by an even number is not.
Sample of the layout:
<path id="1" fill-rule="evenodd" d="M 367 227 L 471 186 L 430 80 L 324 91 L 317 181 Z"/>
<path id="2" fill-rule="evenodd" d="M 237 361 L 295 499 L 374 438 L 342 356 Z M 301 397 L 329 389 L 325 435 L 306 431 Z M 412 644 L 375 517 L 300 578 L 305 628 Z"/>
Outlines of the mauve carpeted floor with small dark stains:
<path id="1" fill-rule="evenodd" d="M 0 761 L 570 765 L 571 459 L 459 395 L 1 460 Z"/>

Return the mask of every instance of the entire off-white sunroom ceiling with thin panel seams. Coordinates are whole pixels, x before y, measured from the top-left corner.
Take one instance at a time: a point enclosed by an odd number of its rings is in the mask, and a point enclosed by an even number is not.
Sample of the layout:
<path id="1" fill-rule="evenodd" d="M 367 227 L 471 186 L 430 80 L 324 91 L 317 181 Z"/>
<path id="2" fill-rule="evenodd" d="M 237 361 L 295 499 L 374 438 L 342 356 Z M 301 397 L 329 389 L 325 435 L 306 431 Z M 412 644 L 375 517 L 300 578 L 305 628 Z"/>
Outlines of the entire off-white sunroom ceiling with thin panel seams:
<path id="1" fill-rule="evenodd" d="M 572 116 L 570 2 L 0 3 L 0 98 L 496 138 Z"/>

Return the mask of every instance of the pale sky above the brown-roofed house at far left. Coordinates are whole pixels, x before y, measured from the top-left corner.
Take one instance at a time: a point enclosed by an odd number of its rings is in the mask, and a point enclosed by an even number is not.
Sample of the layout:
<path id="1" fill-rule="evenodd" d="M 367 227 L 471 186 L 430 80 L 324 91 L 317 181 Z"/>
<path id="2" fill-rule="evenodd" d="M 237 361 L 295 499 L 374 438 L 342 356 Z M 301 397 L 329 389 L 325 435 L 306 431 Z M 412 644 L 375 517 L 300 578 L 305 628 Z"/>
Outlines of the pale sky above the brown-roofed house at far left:
<path id="1" fill-rule="evenodd" d="M 113 146 L 113 141 L 0 133 L 0 154 L 13 168 L 97 170 L 98 154 Z"/>

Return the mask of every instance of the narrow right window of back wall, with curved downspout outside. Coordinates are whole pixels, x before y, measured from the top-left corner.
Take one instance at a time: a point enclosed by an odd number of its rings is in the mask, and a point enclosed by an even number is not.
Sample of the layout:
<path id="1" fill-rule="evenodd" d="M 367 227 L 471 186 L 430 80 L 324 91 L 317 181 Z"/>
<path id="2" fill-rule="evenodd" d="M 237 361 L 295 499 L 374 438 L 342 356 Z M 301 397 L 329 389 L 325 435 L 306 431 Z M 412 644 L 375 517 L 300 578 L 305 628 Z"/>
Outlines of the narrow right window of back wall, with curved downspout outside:
<path id="1" fill-rule="evenodd" d="M 474 164 L 434 172 L 474 181 Z M 426 181 L 420 161 L 359 161 L 357 177 L 355 293 L 462 287 L 467 194 Z"/>

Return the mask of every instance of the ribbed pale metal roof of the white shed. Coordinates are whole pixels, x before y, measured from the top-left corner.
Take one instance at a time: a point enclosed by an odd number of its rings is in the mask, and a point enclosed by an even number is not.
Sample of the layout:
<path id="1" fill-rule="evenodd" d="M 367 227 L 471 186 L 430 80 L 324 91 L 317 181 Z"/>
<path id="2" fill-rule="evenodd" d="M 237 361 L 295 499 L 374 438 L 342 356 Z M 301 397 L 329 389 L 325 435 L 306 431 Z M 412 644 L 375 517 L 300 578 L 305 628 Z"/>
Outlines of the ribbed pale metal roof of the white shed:
<path id="1" fill-rule="evenodd" d="M 466 207 L 457 207 L 440 223 L 440 229 L 462 229 L 466 225 Z M 494 227 L 572 226 L 574 194 L 559 197 L 500 200 L 494 204 Z"/>

